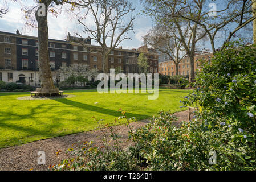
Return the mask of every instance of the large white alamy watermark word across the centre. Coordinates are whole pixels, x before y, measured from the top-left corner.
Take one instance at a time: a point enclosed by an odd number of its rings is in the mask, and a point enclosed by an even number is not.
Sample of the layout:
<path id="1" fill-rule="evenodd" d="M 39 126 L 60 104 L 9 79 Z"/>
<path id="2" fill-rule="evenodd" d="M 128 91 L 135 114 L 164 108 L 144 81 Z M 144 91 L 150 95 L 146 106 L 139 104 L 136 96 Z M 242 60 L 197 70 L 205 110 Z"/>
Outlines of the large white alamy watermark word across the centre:
<path id="1" fill-rule="evenodd" d="M 121 79 L 121 80 L 120 80 Z M 148 73 L 118 73 L 115 75 L 115 69 L 110 69 L 110 74 L 100 73 L 97 75 L 97 80 L 101 81 L 97 85 L 97 92 L 99 93 L 140 93 L 140 83 L 141 83 L 141 93 L 150 94 L 148 100 L 156 100 L 159 97 L 159 74 L 154 73 L 153 80 L 152 74 Z M 115 85 L 115 80 L 119 81 Z M 154 86 L 152 87 L 152 81 Z M 127 83 L 128 82 L 128 83 Z M 134 88 L 133 88 L 134 82 Z M 128 90 L 127 90 L 128 85 Z M 153 94 L 152 94 L 153 93 Z"/>

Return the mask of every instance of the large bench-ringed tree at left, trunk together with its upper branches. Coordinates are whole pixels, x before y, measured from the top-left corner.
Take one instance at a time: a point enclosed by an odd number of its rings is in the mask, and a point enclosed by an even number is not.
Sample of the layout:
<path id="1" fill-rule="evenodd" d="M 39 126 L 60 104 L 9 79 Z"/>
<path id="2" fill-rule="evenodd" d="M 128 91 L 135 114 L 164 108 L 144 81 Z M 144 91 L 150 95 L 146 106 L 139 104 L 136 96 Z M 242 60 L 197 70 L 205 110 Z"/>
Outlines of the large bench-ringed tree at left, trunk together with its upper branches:
<path id="1" fill-rule="evenodd" d="M 81 4 L 80 2 L 84 3 Z M 36 27 L 37 22 L 39 52 L 38 61 L 42 89 L 54 89 L 50 59 L 48 55 L 48 12 L 52 14 L 61 13 L 61 7 L 64 5 L 64 3 L 69 3 L 71 5 L 71 10 L 78 5 L 84 7 L 87 6 L 86 1 L 84 0 L 35 0 L 35 5 L 33 6 L 28 7 L 25 5 L 21 5 L 27 19 L 26 24 L 29 24 L 32 27 Z M 60 6 L 60 8 L 56 6 Z"/>

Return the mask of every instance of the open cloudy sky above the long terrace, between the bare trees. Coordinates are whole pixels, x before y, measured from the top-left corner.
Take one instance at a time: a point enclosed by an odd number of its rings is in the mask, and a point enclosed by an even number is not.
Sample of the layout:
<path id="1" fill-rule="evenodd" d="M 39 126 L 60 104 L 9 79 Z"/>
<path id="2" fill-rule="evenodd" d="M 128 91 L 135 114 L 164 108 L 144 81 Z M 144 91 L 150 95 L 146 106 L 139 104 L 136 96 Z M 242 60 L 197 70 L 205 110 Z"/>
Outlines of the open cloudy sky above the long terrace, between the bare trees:
<path id="1" fill-rule="evenodd" d="M 26 3 L 26 5 L 30 5 L 34 2 L 33 0 L 18 1 Z M 120 43 L 119 46 L 122 46 L 124 49 L 132 49 L 142 46 L 143 41 L 141 38 L 147 34 L 153 24 L 151 18 L 145 15 L 139 15 L 140 10 L 143 8 L 140 2 L 136 0 L 131 1 L 135 6 L 135 11 L 132 13 L 132 15 L 135 16 L 135 20 L 133 21 L 134 32 L 130 31 L 128 33 L 128 36 L 132 40 L 127 39 Z M 92 18 L 88 18 L 87 20 L 87 23 L 93 21 Z M 62 14 L 58 15 L 57 18 L 51 14 L 48 15 L 48 28 L 50 39 L 64 40 L 66 39 L 68 32 L 70 32 L 71 36 L 74 36 L 75 32 L 79 32 L 79 34 L 84 37 L 88 36 L 83 35 L 81 29 L 82 26 L 79 26 L 74 18 L 68 18 L 68 14 L 64 11 L 62 11 Z M 21 11 L 19 3 L 10 3 L 9 13 L 5 14 L 3 18 L 0 18 L 0 31 L 15 33 L 17 29 L 23 35 L 37 36 L 37 30 L 35 28 L 27 28 L 27 26 L 25 26 L 24 14 Z M 92 44 L 96 45 L 95 42 L 92 42 Z"/>

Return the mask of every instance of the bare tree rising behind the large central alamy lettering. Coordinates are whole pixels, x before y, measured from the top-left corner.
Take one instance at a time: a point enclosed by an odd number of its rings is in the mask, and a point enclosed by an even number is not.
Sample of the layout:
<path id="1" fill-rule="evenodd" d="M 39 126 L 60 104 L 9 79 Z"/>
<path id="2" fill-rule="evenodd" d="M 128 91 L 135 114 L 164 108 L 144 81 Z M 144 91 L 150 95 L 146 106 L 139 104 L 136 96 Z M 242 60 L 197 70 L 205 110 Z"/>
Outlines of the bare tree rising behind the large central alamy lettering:
<path id="1" fill-rule="evenodd" d="M 129 18 L 128 15 L 134 10 L 132 3 L 127 0 L 89 0 L 86 14 L 83 17 L 78 16 L 83 32 L 90 34 L 91 39 L 100 44 L 101 48 L 96 51 L 102 55 L 103 72 L 107 72 L 105 64 L 109 53 L 123 40 L 131 39 L 125 34 L 133 30 L 134 18 Z M 88 16 L 94 18 L 93 26 L 86 23 Z M 77 35 L 82 38 L 78 33 Z"/>

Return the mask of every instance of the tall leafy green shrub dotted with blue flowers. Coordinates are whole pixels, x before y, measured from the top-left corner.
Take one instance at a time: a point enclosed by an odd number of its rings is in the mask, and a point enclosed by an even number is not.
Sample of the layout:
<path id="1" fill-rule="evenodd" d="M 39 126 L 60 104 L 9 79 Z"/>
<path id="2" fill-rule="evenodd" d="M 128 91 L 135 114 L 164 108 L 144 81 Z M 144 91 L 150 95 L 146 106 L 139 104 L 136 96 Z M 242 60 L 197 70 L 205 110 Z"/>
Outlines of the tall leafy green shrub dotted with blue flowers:
<path id="1" fill-rule="evenodd" d="M 230 139 L 255 144 L 256 46 L 234 45 L 217 53 L 210 65 L 203 64 L 197 89 L 184 106 L 196 107 L 197 116 L 209 128 L 225 123 L 233 132 Z"/>

